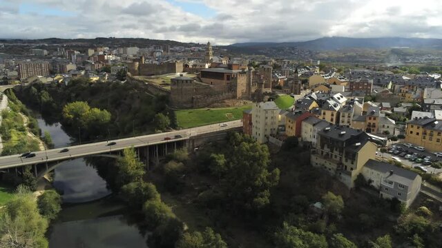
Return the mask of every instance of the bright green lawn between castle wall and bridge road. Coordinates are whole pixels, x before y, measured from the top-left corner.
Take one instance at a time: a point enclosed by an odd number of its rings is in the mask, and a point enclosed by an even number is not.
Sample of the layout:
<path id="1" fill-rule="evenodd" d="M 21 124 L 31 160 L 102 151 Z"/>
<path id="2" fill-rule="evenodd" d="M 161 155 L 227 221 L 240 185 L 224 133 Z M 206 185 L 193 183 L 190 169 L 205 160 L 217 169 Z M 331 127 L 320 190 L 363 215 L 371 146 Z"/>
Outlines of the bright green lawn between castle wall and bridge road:
<path id="1" fill-rule="evenodd" d="M 199 127 L 224 121 L 235 121 L 242 118 L 243 110 L 250 110 L 251 105 L 218 109 L 176 110 L 178 126 L 182 128 Z"/>

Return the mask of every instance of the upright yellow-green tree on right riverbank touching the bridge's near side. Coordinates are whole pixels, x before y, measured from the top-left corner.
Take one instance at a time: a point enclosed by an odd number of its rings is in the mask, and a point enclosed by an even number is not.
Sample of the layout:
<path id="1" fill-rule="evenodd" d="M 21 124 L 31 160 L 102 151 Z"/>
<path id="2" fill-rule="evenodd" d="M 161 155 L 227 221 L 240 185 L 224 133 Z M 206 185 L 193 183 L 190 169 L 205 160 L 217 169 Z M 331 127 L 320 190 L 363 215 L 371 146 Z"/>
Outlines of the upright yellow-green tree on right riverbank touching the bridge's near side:
<path id="1" fill-rule="evenodd" d="M 133 147 L 123 150 L 123 157 L 118 158 L 117 167 L 120 174 L 119 185 L 140 181 L 146 173 L 144 171 L 144 165 L 137 158 Z"/>

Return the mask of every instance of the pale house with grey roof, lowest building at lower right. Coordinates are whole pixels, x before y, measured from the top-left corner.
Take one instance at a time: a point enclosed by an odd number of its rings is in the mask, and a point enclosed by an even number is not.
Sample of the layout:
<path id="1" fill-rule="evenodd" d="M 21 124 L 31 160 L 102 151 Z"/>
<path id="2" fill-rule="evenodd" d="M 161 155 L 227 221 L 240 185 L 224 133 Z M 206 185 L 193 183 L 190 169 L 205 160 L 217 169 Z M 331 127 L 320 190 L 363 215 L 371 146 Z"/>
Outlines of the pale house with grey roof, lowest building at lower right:
<path id="1" fill-rule="evenodd" d="M 405 207 L 410 207 L 421 190 L 422 178 L 415 172 L 374 159 L 367 161 L 362 175 L 382 198 L 397 198 Z"/>

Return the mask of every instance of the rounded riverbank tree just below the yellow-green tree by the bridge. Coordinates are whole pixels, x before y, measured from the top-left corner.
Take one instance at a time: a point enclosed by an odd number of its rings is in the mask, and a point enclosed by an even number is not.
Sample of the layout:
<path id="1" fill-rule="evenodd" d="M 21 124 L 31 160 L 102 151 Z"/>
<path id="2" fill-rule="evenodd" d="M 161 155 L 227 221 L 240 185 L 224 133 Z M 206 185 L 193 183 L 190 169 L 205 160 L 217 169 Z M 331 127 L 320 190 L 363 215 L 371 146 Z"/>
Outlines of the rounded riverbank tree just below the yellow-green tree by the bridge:
<path id="1" fill-rule="evenodd" d="M 160 193 L 152 183 L 137 181 L 124 185 L 121 189 L 123 198 L 125 198 L 131 207 L 142 209 L 146 200 L 160 200 Z"/>

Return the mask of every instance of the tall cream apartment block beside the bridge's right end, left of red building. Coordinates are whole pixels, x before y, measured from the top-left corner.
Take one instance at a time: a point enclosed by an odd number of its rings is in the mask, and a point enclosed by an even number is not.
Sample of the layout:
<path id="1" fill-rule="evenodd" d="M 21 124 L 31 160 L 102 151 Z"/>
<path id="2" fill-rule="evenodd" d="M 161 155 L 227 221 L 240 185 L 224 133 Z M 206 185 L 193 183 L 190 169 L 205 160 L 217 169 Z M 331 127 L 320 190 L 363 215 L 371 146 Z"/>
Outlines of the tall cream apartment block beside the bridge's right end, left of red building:
<path id="1" fill-rule="evenodd" d="M 280 109 L 273 101 L 254 103 L 251 110 L 252 137 L 266 143 L 270 134 L 278 132 Z"/>

